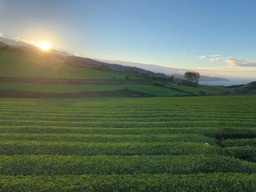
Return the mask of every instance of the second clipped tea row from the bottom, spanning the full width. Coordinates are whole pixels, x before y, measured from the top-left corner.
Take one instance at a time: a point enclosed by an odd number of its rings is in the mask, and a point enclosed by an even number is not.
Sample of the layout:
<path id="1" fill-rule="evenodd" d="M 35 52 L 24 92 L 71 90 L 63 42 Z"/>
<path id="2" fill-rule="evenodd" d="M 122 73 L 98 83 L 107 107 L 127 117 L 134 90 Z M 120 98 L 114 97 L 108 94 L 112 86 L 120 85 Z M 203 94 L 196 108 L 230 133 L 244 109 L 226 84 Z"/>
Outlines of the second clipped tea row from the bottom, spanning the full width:
<path id="1" fill-rule="evenodd" d="M 82 175 L 138 173 L 256 173 L 256 163 L 228 156 L 58 156 L 0 155 L 2 175 Z"/>

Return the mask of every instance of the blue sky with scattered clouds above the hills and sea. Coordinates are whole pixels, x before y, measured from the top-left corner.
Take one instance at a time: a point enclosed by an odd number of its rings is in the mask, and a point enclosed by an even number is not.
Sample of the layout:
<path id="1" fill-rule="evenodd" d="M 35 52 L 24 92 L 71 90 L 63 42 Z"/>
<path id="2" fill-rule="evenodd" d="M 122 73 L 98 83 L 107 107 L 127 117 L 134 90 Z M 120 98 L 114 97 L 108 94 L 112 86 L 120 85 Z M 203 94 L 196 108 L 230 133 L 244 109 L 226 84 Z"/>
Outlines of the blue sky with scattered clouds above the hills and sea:
<path id="1" fill-rule="evenodd" d="M 255 0 L 0 0 L 0 36 L 88 58 L 253 78 L 255 7 Z"/>

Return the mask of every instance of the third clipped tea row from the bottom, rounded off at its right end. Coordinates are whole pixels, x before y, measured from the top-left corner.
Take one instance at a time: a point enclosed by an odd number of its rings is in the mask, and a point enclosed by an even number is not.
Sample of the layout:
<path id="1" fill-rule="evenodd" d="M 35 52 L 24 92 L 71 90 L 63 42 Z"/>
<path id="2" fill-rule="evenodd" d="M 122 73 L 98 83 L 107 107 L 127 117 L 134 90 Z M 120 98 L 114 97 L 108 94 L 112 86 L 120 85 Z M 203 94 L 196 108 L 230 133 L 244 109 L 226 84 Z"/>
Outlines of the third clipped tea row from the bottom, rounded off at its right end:
<path id="1" fill-rule="evenodd" d="M 0 154 L 52 155 L 224 155 L 216 145 L 193 142 L 84 143 L 50 141 L 0 141 Z"/>

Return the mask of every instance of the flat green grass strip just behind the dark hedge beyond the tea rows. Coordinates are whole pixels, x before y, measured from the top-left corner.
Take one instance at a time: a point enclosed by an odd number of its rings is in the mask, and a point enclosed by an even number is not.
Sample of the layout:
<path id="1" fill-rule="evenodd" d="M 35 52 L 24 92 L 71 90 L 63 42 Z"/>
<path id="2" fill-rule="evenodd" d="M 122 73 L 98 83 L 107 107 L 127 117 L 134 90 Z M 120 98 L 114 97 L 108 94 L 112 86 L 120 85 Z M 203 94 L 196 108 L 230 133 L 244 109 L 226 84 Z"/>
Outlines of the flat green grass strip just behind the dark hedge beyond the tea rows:
<path id="1" fill-rule="evenodd" d="M 19 89 L 23 91 L 42 91 L 42 92 L 73 92 L 73 91 L 98 91 L 109 89 L 124 89 L 129 87 L 131 90 L 141 91 L 159 96 L 169 95 L 189 95 L 187 93 L 167 89 L 154 85 L 57 85 L 57 84 L 29 84 L 29 83 L 0 83 L 1 89 Z"/>

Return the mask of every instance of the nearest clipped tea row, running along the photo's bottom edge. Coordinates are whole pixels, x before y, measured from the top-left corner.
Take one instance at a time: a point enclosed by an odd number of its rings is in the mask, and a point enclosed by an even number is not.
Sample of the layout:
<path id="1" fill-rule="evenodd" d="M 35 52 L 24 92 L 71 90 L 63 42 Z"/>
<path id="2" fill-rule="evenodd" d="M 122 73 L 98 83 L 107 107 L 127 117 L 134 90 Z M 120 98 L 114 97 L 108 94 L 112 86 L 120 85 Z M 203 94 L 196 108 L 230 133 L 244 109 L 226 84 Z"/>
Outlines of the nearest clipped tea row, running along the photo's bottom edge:
<path id="1" fill-rule="evenodd" d="M 0 191 L 244 191 L 255 190 L 256 174 L 134 174 L 0 176 Z"/>

